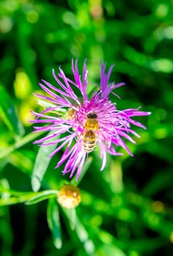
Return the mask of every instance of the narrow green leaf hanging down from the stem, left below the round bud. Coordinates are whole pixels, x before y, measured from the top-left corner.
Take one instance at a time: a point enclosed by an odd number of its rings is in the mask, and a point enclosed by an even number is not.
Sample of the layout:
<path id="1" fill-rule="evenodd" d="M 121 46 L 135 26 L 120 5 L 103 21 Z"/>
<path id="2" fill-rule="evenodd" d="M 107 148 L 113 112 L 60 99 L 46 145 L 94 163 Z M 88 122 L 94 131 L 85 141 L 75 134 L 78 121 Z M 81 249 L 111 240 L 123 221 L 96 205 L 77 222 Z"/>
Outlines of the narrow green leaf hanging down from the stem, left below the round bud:
<path id="1" fill-rule="evenodd" d="M 61 249 L 61 223 L 59 219 L 58 204 L 54 198 L 50 198 L 47 204 L 47 222 L 53 235 L 53 243 L 57 249 Z"/>

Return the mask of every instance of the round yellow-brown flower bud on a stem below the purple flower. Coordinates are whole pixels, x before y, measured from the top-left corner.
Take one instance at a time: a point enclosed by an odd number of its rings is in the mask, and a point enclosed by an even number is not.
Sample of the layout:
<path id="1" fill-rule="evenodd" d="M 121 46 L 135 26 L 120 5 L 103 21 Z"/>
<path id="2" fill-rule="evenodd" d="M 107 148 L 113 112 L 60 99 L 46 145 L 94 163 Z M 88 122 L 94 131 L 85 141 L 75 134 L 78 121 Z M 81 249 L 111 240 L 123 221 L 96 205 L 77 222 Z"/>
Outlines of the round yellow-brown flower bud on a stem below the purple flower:
<path id="1" fill-rule="evenodd" d="M 64 185 L 58 192 L 57 201 L 65 208 L 75 208 L 80 204 L 80 189 L 72 185 Z"/>

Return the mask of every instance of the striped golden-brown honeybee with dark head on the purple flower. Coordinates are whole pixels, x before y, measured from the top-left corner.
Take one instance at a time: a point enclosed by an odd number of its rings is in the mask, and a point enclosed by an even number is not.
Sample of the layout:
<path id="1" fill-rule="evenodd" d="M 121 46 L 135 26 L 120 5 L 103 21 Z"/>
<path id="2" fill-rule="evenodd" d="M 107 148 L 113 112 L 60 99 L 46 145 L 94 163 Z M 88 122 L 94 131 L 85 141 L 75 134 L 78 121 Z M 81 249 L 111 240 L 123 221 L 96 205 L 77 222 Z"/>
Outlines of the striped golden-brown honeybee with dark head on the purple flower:
<path id="1" fill-rule="evenodd" d="M 86 153 L 93 151 L 96 145 L 96 130 L 99 129 L 96 113 L 88 113 L 84 124 L 85 132 L 82 138 L 82 149 Z"/>

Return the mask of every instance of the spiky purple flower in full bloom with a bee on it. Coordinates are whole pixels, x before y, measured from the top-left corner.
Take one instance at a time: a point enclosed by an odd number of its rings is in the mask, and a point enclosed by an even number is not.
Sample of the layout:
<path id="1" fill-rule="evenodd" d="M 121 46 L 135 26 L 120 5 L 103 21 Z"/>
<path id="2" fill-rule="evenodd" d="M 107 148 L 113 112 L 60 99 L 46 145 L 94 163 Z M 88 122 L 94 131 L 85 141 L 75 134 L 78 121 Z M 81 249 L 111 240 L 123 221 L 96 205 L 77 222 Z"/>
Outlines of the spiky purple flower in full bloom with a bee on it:
<path id="1" fill-rule="evenodd" d="M 131 124 L 143 129 L 145 126 L 134 121 L 132 117 L 150 115 L 149 112 L 139 111 L 139 108 L 117 110 L 115 103 L 110 101 L 109 94 L 115 94 L 113 90 L 123 86 L 124 83 L 109 83 L 114 66 L 106 72 L 106 64 L 100 61 L 100 67 L 101 86 L 99 90 L 98 87 L 96 88 L 91 98 L 88 98 L 86 92 L 88 86 L 86 61 L 83 64 L 82 78 L 78 71 L 77 61 L 75 64 L 72 61 L 74 81 L 66 78 L 63 70 L 59 68 L 58 76 L 53 70 L 53 78 L 58 83 L 58 88 L 42 80 L 39 85 L 48 96 L 35 94 L 47 102 L 47 105 L 41 113 L 32 112 L 36 119 L 31 122 L 45 124 L 44 127 L 34 127 L 36 132 L 51 131 L 51 134 L 34 143 L 39 143 L 39 146 L 57 144 L 58 146 L 50 157 L 53 157 L 61 148 L 65 148 L 56 167 L 66 161 L 63 174 L 70 173 L 70 178 L 75 172 L 77 172 L 76 179 L 79 178 L 86 157 L 95 148 L 96 150 L 99 148 L 102 159 L 101 170 L 106 165 L 107 153 L 122 154 L 116 151 L 116 146 L 125 148 L 128 154 L 133 156 L 124 139 L 135 143 L 131 135 L 137 138 L 139 135 L 131 129 Z M 74 90 L 82 97 L 77 97 Z M 117 94 L 115 95 L 118 97 Z"/>

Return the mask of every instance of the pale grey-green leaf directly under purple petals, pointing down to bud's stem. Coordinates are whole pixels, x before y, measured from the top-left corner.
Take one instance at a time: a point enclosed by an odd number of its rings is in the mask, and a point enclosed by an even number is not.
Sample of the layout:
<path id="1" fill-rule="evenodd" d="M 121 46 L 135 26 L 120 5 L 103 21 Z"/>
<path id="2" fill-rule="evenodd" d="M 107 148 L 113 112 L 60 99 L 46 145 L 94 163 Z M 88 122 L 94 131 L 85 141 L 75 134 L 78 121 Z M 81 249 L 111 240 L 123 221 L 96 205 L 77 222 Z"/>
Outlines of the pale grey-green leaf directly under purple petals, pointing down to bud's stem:
<path id="1" fill-rule="evenodd" d="M 49 133 L 51 135 L 52 132 Z M 58 136 L 50 139 L 49 141 L 57 140 Z M 31 176 L 32 189 L 36 192 L 41 187 L 42 178 L 45 175 L 47 167 L 50 163 L 50 154 L 54 151 L 57 144 L 50 146 L 42 146 L 36 156 L 36 161 L 34 164 L 34 170 Z"/>

